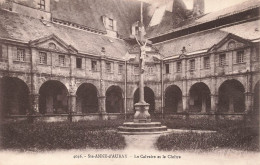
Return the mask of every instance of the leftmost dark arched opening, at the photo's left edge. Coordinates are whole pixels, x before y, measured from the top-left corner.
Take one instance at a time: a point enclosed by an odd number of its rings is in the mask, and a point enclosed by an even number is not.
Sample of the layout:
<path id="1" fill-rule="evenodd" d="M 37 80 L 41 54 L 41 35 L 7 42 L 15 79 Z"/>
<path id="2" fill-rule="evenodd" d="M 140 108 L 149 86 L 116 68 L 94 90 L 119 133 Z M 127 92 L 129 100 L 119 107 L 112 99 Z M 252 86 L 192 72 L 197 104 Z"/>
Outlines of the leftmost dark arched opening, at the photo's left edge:
<path id="1" fill-rule="evenodd" d="M 29 112 L 29 88 L 24 81 L 14 77 L 0 79 L 1 114 L 26 115 Z"/>

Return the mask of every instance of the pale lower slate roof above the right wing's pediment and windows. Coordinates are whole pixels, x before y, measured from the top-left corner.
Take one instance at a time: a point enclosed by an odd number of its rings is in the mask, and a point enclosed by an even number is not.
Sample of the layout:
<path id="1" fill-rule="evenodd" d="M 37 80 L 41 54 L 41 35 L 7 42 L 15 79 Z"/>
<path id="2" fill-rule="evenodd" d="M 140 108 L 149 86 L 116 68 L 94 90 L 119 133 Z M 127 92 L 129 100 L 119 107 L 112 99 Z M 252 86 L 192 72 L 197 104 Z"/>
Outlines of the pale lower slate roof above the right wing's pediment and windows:
<path id="1" fill-rule="evenodd" d="M 255 40 L 260 38 L 259 28 L 260 20 L 246 22 L 242 24 L 233 25 L 221 29 L 207 30 L 199 32 L 166 42 L 155 44 L 159 49 L 160 54 L 165 57 L 179 56 L 182 48 L 186 48 L 186 53 L 198 52 L 208 50 L 214 44 L 218 44 L 228 34 L 234 34 L 246 40 Z"/>

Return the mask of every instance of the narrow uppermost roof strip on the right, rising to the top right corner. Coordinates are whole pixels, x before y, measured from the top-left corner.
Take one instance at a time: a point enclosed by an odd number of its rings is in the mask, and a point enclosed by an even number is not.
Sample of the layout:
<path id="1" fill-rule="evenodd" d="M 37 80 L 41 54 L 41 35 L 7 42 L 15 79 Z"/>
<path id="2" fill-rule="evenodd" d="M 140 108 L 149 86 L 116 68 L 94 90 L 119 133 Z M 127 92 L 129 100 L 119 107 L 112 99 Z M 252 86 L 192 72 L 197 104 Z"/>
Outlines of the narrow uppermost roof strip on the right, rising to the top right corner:
<path id="1" fill-rule="evenodd" d="M 233 15 L 242 11 L 246 11 L 252 8 L 257 8 L 260 7 L 260 1 L 259 0 L 249 0 L 249 1 L 245 1 L 242 2 L 240 4 L 237 5 L 233 5 L 230 6 L 228 8 L 216 11 L 216 12 L 212 12 L 212 13 L 208 13 L 205 15 L 202 15 L 200 17 L 196 17 L 196 18 L 189 18 L 189 19 L 185 19 L 182 22 L 171 22 L 174 14 L 173 13 L 165 13 L 165 16 L 162 20 L 162 25 L 158 25 L 155 27 L 150 27 L 148 28 L 148 34 L 147 37 L 148 38 L 154 38 L 163 34 L 167 34 L 170 32 L 174 32 L 174 31 L 178 31 L 181 29 L 185 29 L 185 28 L 189 28 L 198 24 L 202 24 L 205 22 L 209 22 L 209 21 L 213 21 L 222 17 L 226 17 L 229 15 Z M 183 9 L 185 10 L 185 9 Z M 171 22 L 168 23 L 167 22 Z"/>

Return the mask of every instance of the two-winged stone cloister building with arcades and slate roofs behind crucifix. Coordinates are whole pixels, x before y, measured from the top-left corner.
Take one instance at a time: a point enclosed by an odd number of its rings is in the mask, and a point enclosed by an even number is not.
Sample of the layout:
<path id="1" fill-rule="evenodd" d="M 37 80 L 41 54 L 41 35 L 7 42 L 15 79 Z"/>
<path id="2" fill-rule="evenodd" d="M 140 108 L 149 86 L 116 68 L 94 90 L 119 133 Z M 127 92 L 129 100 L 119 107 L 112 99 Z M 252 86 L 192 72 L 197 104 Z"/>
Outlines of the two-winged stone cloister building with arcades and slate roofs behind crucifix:
<path id="1" fill-rule="evenodd" d="M 159 2 L 159 1 L 158 1 Z M 145 101 L 154 117 L 259 115 L 258 0 L 213 13 L 204 1 L 144 4 Z M 138 102 L 140 1 L 0 4 L 4 119 L 131 116 Z"/>

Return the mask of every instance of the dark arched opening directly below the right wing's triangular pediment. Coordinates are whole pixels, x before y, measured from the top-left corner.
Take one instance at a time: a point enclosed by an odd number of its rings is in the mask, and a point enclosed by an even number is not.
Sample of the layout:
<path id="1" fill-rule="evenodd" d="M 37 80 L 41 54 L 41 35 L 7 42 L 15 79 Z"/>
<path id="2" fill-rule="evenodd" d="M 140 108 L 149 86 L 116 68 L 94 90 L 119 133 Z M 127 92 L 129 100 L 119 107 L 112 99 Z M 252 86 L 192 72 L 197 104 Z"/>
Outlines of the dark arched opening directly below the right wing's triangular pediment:
<path id="1" fill-rule="evenodd" d="M 227 80 L 221 84 L 218 91 L 218 111 L 245 111 L 245 88 L 237 80 Z"/>

